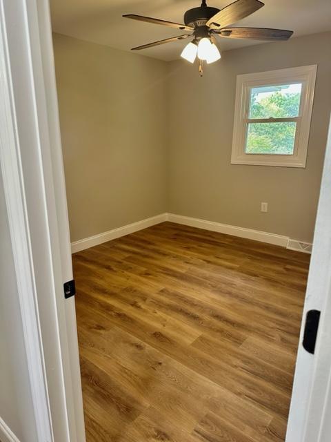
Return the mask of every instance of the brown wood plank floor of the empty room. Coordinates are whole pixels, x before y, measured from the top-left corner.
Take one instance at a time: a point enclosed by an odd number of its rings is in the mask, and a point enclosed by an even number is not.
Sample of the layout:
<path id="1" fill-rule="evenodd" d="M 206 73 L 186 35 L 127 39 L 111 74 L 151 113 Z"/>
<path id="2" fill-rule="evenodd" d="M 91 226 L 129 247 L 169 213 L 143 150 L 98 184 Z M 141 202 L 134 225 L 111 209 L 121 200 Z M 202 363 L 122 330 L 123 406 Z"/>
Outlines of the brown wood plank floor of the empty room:
<path id="1" fill-rule="evenodd" d="M 170 222 L 76 253 L 88 442 L 284 441 L 309 258 Z"/>

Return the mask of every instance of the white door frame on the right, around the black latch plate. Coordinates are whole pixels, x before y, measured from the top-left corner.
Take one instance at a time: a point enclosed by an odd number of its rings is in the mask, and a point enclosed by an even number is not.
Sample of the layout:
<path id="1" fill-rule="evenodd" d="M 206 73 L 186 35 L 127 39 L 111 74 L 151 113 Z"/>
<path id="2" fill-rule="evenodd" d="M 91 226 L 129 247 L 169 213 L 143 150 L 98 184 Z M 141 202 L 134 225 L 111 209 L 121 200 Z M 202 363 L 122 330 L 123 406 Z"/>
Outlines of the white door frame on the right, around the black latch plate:
<path id="1" fill-rule="evenodd" d="M 314 355 L 303 349 L 305 316 L 321 311 Z M 286 442 L 326 442 L 331 412 L 331 119 L 317 211 Z M 329 401 L 329 403 L 328 403 Z M 330 420 L 330 417 L 329 417 Z"/>

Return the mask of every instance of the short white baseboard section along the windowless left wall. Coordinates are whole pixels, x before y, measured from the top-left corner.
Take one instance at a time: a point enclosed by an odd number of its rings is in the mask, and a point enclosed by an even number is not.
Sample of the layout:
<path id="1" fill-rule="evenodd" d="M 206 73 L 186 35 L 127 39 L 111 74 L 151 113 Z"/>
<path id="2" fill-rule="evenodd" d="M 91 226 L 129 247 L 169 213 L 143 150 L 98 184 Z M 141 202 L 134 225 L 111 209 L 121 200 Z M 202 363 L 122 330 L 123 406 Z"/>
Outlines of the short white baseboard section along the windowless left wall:
<path id="1" fill-rule="evenodd" d="M 161 213 L 161 215 L 153 216 L 152 218 L 146 218 L 146 220 L 132 222 L 132 224 L 127 224 L 126 226 L 118 227 L 117 229 L 112 229 L 108 232 L 99 233 L 99 235 L 90 236 L 90 238 L 85 238 L 83 240 L 72 242 L 71 251 L 72 253 L 76 253 L 77 251 L 90 249 L 90 247 L 103 244 L 103 242 L 116 240 L 116 238 L 121 238 L 121 236 L 126 236 L 130 233 L 134 233 L 142 229 L 147 229 L 147 227 L 154 226 L 155 224 L 160 224 L 160 222 L 165 222 L 167 220 L 167 213 Z"/>

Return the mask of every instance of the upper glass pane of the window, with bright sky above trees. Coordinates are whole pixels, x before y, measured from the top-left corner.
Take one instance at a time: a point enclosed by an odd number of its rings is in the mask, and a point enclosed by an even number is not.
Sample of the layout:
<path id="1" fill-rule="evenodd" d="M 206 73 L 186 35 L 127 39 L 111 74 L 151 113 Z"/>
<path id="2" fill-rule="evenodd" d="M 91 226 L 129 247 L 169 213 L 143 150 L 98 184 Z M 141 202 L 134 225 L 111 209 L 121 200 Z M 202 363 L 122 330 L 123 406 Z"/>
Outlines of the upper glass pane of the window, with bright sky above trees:
<path id="1" fill-rule="evenodd" d="M 301 89 L 301 83 L 252 88 L 249 118 L 297 117 Z"/>

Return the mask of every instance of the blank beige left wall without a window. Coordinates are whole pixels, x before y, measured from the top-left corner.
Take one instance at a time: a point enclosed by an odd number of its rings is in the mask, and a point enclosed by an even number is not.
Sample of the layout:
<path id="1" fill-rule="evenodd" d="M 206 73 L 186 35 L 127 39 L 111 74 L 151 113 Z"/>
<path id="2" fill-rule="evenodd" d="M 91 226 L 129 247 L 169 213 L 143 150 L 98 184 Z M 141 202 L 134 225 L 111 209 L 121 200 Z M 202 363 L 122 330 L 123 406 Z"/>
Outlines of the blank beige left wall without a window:
<path id="1" fill-rule="evenodd" d="M 54 35 L 72 241 L 166 211 L 166 64 Z"/>

